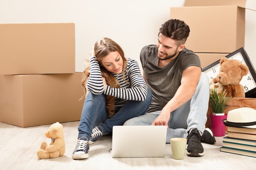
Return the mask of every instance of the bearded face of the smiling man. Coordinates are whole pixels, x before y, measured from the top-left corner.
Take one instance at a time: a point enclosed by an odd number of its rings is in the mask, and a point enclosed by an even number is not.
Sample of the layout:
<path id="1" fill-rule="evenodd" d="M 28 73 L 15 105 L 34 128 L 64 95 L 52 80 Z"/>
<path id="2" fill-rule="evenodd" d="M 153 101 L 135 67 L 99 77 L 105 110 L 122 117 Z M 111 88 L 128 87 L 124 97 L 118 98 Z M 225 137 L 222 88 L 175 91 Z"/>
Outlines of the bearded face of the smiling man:
<path id="1" fill-rule="evenodd" d="M 157 57 L 159 60 L 167 60 L 176 57 L 178 48 L 173 39 L 159 34 L 157 41 Z"/>

